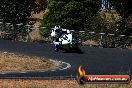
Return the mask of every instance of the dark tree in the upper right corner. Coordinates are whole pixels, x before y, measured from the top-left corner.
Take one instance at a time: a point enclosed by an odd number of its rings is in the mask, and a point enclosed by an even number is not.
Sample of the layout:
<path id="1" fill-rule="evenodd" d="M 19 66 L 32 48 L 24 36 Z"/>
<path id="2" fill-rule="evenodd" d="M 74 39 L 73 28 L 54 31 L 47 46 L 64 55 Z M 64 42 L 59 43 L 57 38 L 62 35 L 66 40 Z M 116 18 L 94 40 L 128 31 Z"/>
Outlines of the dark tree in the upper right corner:
<path id="1" fill-rule="evenodd" d="M 129 19 L 132 17 L 132 0 L 109 0 L 116 12 L 122 17 L 119 21 L 120 33 L 131 35 L 132 27 L 130 27 Z"/>

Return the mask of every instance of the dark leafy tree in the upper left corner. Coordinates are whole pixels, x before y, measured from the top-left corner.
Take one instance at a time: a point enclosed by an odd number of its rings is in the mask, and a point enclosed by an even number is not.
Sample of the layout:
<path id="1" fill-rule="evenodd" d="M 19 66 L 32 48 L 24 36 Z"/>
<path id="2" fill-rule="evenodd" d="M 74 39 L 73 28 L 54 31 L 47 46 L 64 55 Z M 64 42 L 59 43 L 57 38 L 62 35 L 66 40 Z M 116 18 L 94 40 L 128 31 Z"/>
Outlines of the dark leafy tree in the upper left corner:
<path id="1" fill-rule="evenodd" d="M 42 5 L 47 6 L 46 0 L 1 0 L 0 1 L 0 17 L 5 22 L 26 23 L 28 18 L 31 16 L 31 12 L 37 12 Z M 38 9 L 37 9 L 38 8 Z"/>

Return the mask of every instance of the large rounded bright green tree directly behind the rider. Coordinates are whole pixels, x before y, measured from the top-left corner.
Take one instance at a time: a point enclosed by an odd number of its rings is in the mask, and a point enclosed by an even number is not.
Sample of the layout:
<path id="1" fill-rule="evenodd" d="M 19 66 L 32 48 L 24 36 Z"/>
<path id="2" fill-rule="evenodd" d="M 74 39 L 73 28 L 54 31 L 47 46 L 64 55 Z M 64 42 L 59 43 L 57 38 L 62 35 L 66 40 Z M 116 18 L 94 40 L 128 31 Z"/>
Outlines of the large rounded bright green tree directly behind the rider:
<path id="1" fill-rule="evenodd" d="M 63 28 L 82 30 L 99 10 L 99 0 L 49 0 L 48 11 L 42 26 L 60 25 Z"/>

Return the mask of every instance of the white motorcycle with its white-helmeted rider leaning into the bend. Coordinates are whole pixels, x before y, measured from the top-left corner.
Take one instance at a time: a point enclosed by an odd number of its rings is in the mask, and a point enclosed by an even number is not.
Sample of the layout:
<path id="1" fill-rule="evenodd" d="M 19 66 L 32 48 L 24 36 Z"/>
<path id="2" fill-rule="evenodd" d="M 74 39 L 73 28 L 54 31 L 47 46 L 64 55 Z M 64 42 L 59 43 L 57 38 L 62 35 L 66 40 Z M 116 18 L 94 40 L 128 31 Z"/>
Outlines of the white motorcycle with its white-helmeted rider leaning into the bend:
<path id="1" fill-rule="evenodd" d="M 51 37 L 54 50 L 56 52 L 58 52 L 59 49 L 66 51 L 78 49 L 77 38 L 69 29 L 63 29 L 60 26 L 55 26 L 52 28 Z"/>

